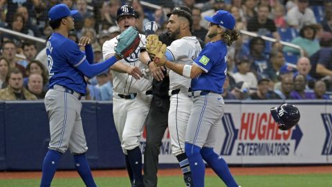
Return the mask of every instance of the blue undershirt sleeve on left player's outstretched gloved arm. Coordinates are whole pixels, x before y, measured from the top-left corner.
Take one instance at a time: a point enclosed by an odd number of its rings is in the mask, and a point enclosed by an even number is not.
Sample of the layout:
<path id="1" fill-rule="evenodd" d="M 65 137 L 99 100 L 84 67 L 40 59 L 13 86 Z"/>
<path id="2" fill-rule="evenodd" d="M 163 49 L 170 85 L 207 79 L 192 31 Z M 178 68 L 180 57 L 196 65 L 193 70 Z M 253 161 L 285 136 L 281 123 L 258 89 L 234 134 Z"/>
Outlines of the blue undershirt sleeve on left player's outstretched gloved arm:
<path id="1" fill-rule="evenodd" d="M 93 78 L 95 75 L 102 73 L 103 71 L 107 70 L 110 66 L 118 62 L 118 59 L 113 56 L 109 59 L 105 60 L 104 62 L 100 62 L 97 64 L 89 64 L 87 60 L 84 60 L 79 66 L 76 68 L 86 75 L 88 78 Z"/>

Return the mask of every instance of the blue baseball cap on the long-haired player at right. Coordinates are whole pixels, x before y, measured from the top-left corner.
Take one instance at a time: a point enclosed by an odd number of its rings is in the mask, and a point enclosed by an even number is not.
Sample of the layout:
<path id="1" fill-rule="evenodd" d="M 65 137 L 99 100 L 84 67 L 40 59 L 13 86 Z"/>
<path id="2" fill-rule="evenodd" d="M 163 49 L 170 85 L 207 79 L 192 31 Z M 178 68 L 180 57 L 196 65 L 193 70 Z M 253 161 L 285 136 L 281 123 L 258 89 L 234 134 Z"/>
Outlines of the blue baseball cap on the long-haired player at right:
<path id="1" fill-rule="evenodd" d="M 235 19 L 233 15 L 225 10 L 218 10 L 212 17 L 205 16 L 204 19 L 230 30 L 233 30 L 235 26 Z"/>

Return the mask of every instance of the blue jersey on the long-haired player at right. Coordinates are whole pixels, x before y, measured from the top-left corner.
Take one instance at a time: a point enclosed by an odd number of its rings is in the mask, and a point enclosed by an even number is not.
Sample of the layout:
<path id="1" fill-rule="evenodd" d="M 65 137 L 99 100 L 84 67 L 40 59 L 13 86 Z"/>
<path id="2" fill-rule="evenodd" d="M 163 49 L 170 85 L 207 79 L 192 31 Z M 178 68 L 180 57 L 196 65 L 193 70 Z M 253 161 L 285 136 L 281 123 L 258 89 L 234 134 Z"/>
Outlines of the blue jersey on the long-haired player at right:
<path id="1" fill-rule="evenodd" d="M 205 73 L 192 79 L 192 91 L 209 90 L 223 93 L 227 71 L 227 46 L 222 40 L 206 44 L 194 60 Z M 209 72 L 209 73 L 208 73 Z"/>

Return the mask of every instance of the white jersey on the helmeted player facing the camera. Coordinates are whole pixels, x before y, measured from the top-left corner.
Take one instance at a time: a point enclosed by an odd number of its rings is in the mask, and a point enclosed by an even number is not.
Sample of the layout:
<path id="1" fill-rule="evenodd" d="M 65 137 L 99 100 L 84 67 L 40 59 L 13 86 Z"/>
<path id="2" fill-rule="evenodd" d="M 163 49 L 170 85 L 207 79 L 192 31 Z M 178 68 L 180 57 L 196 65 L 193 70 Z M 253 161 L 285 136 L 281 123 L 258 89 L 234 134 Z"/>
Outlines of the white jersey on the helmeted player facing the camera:
<path id="1" fill-rule="evenodd" d="M 102 46 L 102 56 L 104 60 L 107 57 L 114 55 L 116 52 L 114 49 L 118 44 L 118 37 L 114 37 L 113 39 L 105 42 Z M 131 55 L 127 58 L 119 60 L 122 64 L 126 64 L 128 66 L 138 66 L 140 69 L 144 69 L 146 67 L 145 64 L 140 62 L 140 48 L 145 45 L 147 39 L 145 35 L 140 35 L 140 45 L 131 53 Z M 140 78 L 140 80 L 136 80 L 131 75 L 127 73 L 119 73 L 117 71 L 111 71 L 113 75 L 113 91 L 118 94 L 133 94 L 138 93 L 140 91 L 147 91 L 152 88 L 152 78 Z"/>

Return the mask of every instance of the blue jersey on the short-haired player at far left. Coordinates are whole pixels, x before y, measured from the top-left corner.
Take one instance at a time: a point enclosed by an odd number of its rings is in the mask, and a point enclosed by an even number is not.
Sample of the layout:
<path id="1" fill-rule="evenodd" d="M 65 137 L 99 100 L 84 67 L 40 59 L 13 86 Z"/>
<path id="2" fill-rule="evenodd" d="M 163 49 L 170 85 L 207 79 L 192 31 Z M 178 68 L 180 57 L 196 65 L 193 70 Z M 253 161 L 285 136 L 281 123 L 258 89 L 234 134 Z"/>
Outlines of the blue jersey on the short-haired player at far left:
<path id="1" fill-rule="evenodd" d="M 67 87 L 80 94 L 86 93 L 84 75 L 75 67 L 86 59 L 85 53 L 71 39 L 59 33 L 53 33 L 46 44 L 49 88 L 55 84 Z"/>

